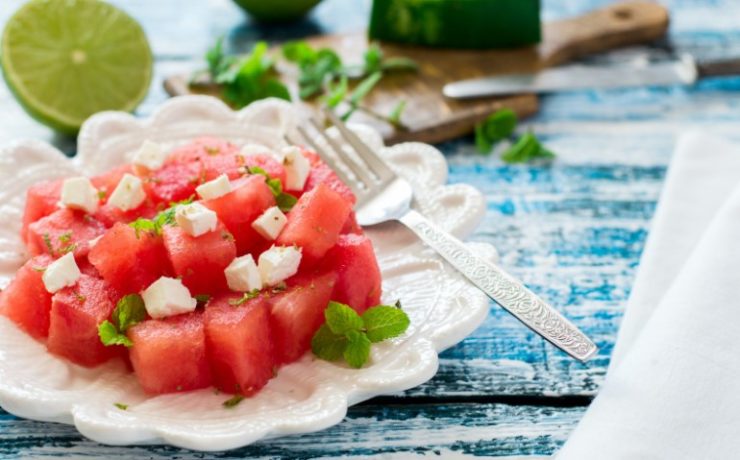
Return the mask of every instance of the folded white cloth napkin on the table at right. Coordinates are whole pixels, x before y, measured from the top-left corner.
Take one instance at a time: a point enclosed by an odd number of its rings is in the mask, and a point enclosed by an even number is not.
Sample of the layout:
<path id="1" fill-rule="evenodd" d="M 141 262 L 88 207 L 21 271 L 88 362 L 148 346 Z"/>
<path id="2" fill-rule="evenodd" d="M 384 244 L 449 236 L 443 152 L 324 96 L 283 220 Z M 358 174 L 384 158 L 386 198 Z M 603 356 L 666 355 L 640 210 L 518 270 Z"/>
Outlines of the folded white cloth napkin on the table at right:
<path id="1" fill-rule="evenodd" d="M 740 457 L 740 146 L 679 140 L 606 381 L 556 457 Z"/>

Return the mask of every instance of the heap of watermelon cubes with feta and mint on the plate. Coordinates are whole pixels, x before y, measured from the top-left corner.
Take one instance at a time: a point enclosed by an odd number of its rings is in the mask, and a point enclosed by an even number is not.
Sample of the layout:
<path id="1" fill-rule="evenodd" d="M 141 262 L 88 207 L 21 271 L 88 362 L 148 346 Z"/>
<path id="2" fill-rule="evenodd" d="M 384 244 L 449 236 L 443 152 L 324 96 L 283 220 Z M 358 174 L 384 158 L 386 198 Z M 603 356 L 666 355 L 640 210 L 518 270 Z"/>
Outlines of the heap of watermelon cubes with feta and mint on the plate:
<path id="1" fill-rule="evenodd" d="M 409 322 L 379 305 L 354 203 L 303 147 L 147 141 L 131 164 L 27 191 L 31 258 L 0 314 L 77 365 L 124 360 L 150 394 L 250 396 L 310 349 L 361 367 Z"/>

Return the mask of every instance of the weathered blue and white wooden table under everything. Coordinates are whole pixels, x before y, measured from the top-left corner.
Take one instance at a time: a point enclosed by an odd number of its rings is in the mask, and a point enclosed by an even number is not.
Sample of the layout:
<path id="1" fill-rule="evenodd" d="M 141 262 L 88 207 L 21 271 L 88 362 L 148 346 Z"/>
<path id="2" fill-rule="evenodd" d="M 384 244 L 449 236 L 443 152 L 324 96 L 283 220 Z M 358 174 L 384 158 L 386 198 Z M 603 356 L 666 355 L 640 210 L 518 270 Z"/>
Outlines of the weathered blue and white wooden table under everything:
<path id="1" fill-rule="evenodd" d="M 0 24 L 21 3 L 3 0 Z M 369 10 L 369 0 L 326 0 L 298 26 L 263 28 L 228 0 L 114 3 L 143 23 L 157 57 L 142 115 L 166 98 L 162 78 L 200 66 L 203 52 L 220 35 L 228 35 L 235 51 L 247 50 L 262 38 L 356 30 Z M 609 2 L 543 3 L 544 18 L 556 19 Z M 665 46 L 700 57 L 740 56 L 740 3 L 663 3 L 672 13 Z M 477 155 L 469 138 L 439 146 L 450 163 L 450 181 L 470 183 L 487 197 L 488 213 L 472 239 L 493 243 L 503 265 L 562 306 L 596 340 L 600 353 L 588 365 L 567 358 L 492 304 L 483 326 L 442 355 L 434 379 L 354 407 L 344 422 L 320 433 L 219 454 L 113 448 L 82 438 L 72 427 L 20 420 L 0 410 L 0 459 L 548 456 L 568 437 L 603 379 L 676 136 L 696 127 L 738 136 L 739 123 L 740 78 L 725 78 L 690 89 L 543 98 L 540 114 L 524 128 L 558 153 L 551 166 L 507 166 Z M 49 140 L 70 153 L 75 148 L 30 120 L 0 86 L 0 143 L 18 137 Z"/>

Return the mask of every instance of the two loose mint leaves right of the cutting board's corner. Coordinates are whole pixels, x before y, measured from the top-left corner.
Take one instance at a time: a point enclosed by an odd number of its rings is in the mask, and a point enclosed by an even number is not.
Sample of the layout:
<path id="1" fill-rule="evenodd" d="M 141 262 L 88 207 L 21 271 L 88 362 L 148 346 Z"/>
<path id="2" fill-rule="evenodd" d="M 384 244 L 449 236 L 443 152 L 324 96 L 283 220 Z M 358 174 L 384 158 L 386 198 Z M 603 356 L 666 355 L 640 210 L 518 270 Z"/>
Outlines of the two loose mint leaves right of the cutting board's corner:
<path id="1" fill-rule="evenodd" d="M 500 141 L 511 139 L 518 119 L 511 109 L 501 109 L 475 125 L 475 145 L 483 154 L 490 154 Z M 501 154 L 505 163 L 527 163 L 536 159 L 552 159 L 555 154 L 545 148 L 532 132 L 517 139 Z"/>

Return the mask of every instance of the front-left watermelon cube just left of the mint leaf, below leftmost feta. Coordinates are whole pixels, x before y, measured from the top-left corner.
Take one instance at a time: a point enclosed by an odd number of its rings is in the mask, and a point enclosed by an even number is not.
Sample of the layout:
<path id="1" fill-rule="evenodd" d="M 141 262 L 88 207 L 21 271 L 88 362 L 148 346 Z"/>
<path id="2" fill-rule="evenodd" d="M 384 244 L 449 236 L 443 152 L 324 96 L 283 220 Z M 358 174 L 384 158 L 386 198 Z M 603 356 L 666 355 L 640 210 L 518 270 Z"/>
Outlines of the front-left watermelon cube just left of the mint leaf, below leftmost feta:
<path id="1" fill-rule="evenodd" d="M 54 294 L 49 351 L 87 367 L 121 356 L 121 347 L 106 347 L 98 336 L 98 325 L 110 318 L 118 297 L 104 280 L 86 274 L 74 286 Z"/>

